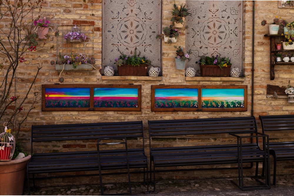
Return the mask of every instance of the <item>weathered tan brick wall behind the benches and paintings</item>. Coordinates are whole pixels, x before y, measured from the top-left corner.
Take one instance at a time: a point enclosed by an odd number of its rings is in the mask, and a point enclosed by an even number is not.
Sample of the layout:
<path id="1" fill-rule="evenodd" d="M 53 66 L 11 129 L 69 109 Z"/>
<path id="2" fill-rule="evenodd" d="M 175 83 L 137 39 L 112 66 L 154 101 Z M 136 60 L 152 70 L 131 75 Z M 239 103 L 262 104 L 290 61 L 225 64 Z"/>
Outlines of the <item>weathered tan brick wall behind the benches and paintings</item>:
<path id="1" fill-rule="evenodd" d="M 185 1 L 163 0 L 162 1 L 162 26 L 170 25 L 171 10 L 173 4 L 181 4 Z M 228 79 L 228 81 L 218 80 L 196 80 L 186 81 L 183 70 L 177 70 L 175 66 L 175 48 L 173 44 L 169 45 L 162 42 L 162 80 L 148 81 L 148 80 L 125 80 L 123 78 L 118 80 L 102 80 L 100 73 L 93 71 L 64 71 L 62 76 L 65 79 L 64 84 L 139 84 L 142 85 L 142 110 L 141 111 L 41 111 L 41 102 L 38 107 L 33 110 L 29 119 L 24 123 L 21 133 L 21 139 L 24 142 L 24 147 L 30 149 L 30 127 L 32 124 L 61 124 L 61 123 L 90 123 L 103 121 L 129 121 L 129 120 L 143 120 L 145 127 L 146 138 L 148 136 L 147 120 L 168 120 L 168 119 L 183 119 L 183 118 L 216 118 L 228 116 L 250 116 L 253 106 L 253 115 L 273 115 L 273 114 L 291 114 L 294 106 L 288 104 L 285 98 L 267 98 L 266 85 L 280 85 L 286 86 L 289 81 L 293 85 L 294 67 L 292 66 L 275 66 L 276 77 L 275 80 L 270 80 L 270 41 L 269 38 L 264 37 L 268 34 L 268 25 L 265 27 L 260 25 L 262 19 L 266 19 L 268 23 L 272 21 L 275 16 L 285 18 L 289 22 L 294 20 L 294 9 L 279 9 L 278 1 L 255 1 L 255 18 L 253 27 L 253 2 L 243 1 L 244 5 L 244 44 L 243 44 L 243 68 L 245 70 L 244 81 L 235 81 Z M 93 9 L 91 1 L 88 0 L 74 0 L 74 1 L 54 1 L 48 0 L 47 4 L 43 6 L 44 14 L 47 19 L 51 21 L 51 27 L 56 30 L 58 25 L 73 25 L 73 24 L 94 24 L 94 57 L 96 60 L 95 68 L 101 68 L 101 33 L 102 33 L 102 3 L 101 0 L 93 0 Z M 93 16 L 92 16 L 93 12 Z M 2 22 L 1 22 L 2 23 Z M 0 28 L 1 28 L 0 24 Z M 254 100 L 252 98 L 252 30 L 254 28 Z M 52 33 L 53 36 L 53 33 Z M 156 41 L 156 40 L 154 40 Z M 55 44 L 54 41 L 51 44 Z M 177 45 L 185 45 L 185 33 L 183 32 L 178 39 Z M 46 49 L 46 48 L 45 48 Z M 27 59 L 35 58 L 36 60 L 27 61 L 27 65 L 22 64 L 17 73 L 16 89 L 17 93 L 21 94 L 21 89 L 26 88 L 24 81 L 29 80 L 36 73 L 36 66 L 39 61 L 43 61 L 43 68 L 38 76 L 36 87 L 41 91 L 42 84 L 58 83 L 59 71 L 55 71 L 55 66 L 50 65 L 50 61 L 56 59 L 56 50 L 37 50 L 36 52 L 29 52 Z M 248 110 L 242 112 L 152 112 L 151 111 L 151 85 L 166 84 L 166 85 L 247 85 L 248 86 Z M 146 151 L 148 153 L 148 140 L 146 140 Z M 62 148 L 62 147 L 60 147 Z M 278 173 L 289 173 L 287 166 L 288 162 L 279 165 Z M 284 169 L 282 169 L 282 167 Z M 199 178 L 203 177 L 220 177 L 230 176 L 230 170 L 221 171 L 196 171 L 193 174 Z M 163 174 L 163 177 L 171 178 L 185 178 L 188 176 L 187 172 L 175 172 Z M 106 177 L 108 178 L 108 177 Z M 83 178 L 79 178 L 79 182 L 83 182 Z M 109 180 L 113 178 L 108 178 Z M 61 183 L 64 179 L 55 182 Z M 85 180 L 87 183 L 88 180 Z"/>

